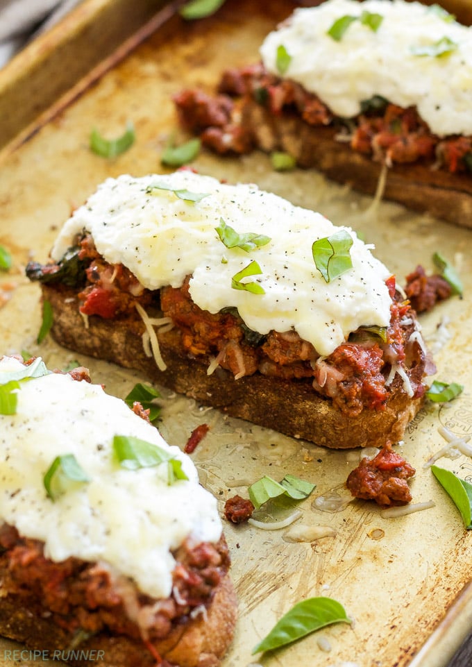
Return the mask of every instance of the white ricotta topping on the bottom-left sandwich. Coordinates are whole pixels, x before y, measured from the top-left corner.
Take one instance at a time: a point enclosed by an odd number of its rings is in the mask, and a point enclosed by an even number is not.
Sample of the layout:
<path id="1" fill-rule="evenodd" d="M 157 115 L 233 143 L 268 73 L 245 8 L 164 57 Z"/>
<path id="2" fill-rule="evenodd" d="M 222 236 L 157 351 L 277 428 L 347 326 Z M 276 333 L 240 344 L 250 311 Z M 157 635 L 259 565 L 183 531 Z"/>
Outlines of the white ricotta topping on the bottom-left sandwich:
<path id="1" fill-rule="evenodd" d="M 0 384 L 23 368 L 15 359 L 1 359 Z M 53 561 L 75 556 L 105 562 L 143 593 L 169 596 L 175 566 L 170 550 L 189 536 L 215 542 L 221 535 L 216 500 L 200 486 L 192 460 L 100 385 L 58 373 L 19 384 L 16 414 L 0 414 L 1 519 L 23 536 L 44 541 Z M 166 464 L 122 468 L 112 452 L 115 435 L 169 450 L 188 480 L 169 486 Z M 90 482 L 53 502 L 44 473 L 65 454 L 76 457 Z"/>

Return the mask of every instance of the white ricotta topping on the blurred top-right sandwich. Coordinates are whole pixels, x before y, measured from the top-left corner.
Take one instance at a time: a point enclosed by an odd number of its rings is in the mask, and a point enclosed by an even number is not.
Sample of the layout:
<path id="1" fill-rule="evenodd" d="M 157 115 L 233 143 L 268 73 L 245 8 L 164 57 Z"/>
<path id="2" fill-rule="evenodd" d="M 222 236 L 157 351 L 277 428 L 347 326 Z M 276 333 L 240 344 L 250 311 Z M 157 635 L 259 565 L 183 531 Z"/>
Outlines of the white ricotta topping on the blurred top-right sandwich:
<path id="1" fill-rule="evenodd" d="M 353 21 L 339 40 L 328 31 L 337 19 L 371 12 L 383 17 L 373 31 Z M 277 49 L 291 57 L 285 78 L 317 94 L 340 117 L 360 113 L 360 103 L 374 95 L 402 107 L 416 105 L 439 136 L 472 134 L 472 28 L 418 2 L 403 0 L 328 0 L 298 8 L 270 33 L 260 53 L 267 69 L 280 76 Z M 441 40 L 455 44 L 440 57 L 419 56 L 418 47 Z M 448 43 L 448 42 L 446 42 Z"/>

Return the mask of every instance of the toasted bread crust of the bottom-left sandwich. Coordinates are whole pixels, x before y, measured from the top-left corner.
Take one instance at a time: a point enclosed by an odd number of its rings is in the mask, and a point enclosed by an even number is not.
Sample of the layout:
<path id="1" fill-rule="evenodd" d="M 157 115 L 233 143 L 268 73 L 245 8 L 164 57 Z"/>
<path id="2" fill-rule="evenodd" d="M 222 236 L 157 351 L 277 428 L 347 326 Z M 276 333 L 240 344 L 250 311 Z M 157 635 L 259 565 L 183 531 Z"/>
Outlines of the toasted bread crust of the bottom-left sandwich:
<path id="1" fill-rule="evenodd" d="M 233 639 L 237 615 L 237 600 L 230 577 L 226 575 L 215 590 L 214 598 L 206 614 L 190 620 L 163 641 L 153 645 L 158 654 L 179 667 L 217 667 Z M 49 618 L 42 618 L 18 604 L 13 596 L 1 598 L 0 634 L 24 643 L 28 648 L 48 652 L 60 652 L 65 659 L 72 650 L 70 635 Z M 80 657 L 67 659 L 78 667 L 155 667 L 155 658 L 140 641 L 126 636 L 109 636 L 101 633 L 92 636 L 75 647 Z M 90 651 L 96 651 L 90 654 Z M 63 652 L 63 653 L 62 653 Z M 87 659 L 88 655 L 92 655 Z M 59 657 L 56 653 L 56 657 Z"/>

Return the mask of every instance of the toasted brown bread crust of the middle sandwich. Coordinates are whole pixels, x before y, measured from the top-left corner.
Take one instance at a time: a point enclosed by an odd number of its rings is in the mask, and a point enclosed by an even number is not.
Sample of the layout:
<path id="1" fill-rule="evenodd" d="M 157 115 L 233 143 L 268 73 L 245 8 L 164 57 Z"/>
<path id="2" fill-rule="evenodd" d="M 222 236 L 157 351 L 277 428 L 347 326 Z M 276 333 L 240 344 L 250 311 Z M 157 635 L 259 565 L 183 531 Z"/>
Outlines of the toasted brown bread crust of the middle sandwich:
<path id="1" fill-rule="evenodd" d="M 53 308 L 51 333 L 71 350 L 141 371 L 148 380 L 217 407 L 231 416 L 276 429 L 330 448 L 381 447 L 401 440 L 407 424 L 423 400 L 412 399 L 397 380 L 385 410 L 362 410 L 348 417 L 329 398 L 316 394 L 311 382 L 269 378 L 255 373 L 235 380 L 217 368 L 207 374 L 208 362 L 183 354 L 178 330 L 158 332 L 160 351 L 167 364 L 160 371 L 142 345 L 144 325 L 137 317 L 106 320 L 90 316 L 85 328 L 73 289 L 42 285 L 43 297 Z"/>

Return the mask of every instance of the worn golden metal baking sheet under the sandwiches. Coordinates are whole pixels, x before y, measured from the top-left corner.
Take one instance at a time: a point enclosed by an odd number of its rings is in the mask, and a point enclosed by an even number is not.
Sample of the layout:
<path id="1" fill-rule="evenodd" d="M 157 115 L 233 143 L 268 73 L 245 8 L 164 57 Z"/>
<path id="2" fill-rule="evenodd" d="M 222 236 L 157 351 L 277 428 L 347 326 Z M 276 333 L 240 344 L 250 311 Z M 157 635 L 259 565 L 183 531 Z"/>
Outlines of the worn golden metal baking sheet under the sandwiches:
<path id="1" fill-rule="evenodd" d="M 163 147 L 173 133 L 177 140 L 183 136 L 176 128 L 171 95 L 189 85 L 211 87 L 224 67 L 253 62 L 262 37 L 290 8 L 292 3 L 277 0 L 264 3 L 258 11 L 249 0 L 228 0 L 218 15 L 205 21 L 183 24 L 172 19 L 28 142 L 3 155 L 0 244 L 12 250 L 15 265 L 0 276 L 0 301 L 6 301 L 0 311 L 1 353 L 26 349 L 58 367 L 76 359 L 89 366 L 94 382 L 105 382 L 107 391 L 118 396 L 125 396 L 137 379 L 143 379 L 74 355 L 51 339 L 37 346 L 39 288 L 24 279 L 24 264 L 31 257 L 46 259 L 62 221 L 107 176 L 164 171 L 160 165 Z M 137 132 L 130 151 L 115 160 L 90 153 L 92 126 L 113 137 L 128 119 Z M 432 269 L 431 256 L 438 250 L 455 263 L 464 280 L 462 300 L 450 299 L 421 318 L 424 336 L 436 349 L 437 377 L 465 386 L 464 394 L 450 405 L 427 405 L 421 410 L 400 448 L 417 470 L 412 482 L 414 502 L 435 502 L 425 512 L 385 520 L 377 507 L 358 500 L 342 512 L 321 512 L 313 505 L 315 498 L 346 493 L 343 484 L 359 461 L 359 452 L 324 450 L 224 419 L 214 410 L 163 390 L 160 430 L 169 442 L 184 446 L 196 425 L 210 425 L 192 457 L 202 483 L 217 496 L 221 509 L 226 498 L 237 492 L 245 495 L 248 484 L 260 476 L 279 479 L 292 473 L 317 484 L 312 497 L 301 503 L 299 523 L 327 525 L 334 532 L 313 543 L 289 543 L 283 539 L 284 530 L 262 532 L 225 525 L 239 596 L 239 623 L 224 667 L 254 663 L 251 647 L 294 603 L 310 596 L 339 600 L 354 623 L 329 627 L 276 654 L 264 655 L 258 663 L 264 667 L 443 667 L 470 627 L 466 619 L 471 618 L 471 587 L 463 588 L 471 576 L 472 533 L 464 530 L 457 511 L 423 464 L 444 444 L 437 431 L 440 424 L 457 434 L 472 431 L 468 326 L 472 233 L 393 204 L 372 208 L 368 198 L 328 184 L 313 171 L 274 173 L 268 158 L 260 154 L 221 160 L 202 153 L 193 166 L 232 183 L 253 181 L 321 211 L 335 223 L 350 224 L 376 244 L 376 255 L 399 282 L 419 262 Z M 440 459 L 439 464 L 462 478 L 472 476 L 471 459 Z M 444 620 L 448 609 L 450 615 Z M 320 648 L 320 636 L 328 640 L 329 652 Z M 3 643 L 0 664 L 10 664 Z"/>

